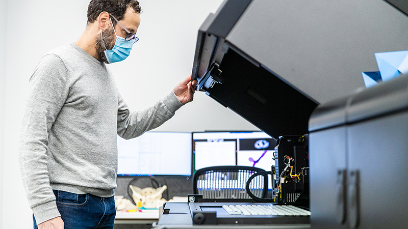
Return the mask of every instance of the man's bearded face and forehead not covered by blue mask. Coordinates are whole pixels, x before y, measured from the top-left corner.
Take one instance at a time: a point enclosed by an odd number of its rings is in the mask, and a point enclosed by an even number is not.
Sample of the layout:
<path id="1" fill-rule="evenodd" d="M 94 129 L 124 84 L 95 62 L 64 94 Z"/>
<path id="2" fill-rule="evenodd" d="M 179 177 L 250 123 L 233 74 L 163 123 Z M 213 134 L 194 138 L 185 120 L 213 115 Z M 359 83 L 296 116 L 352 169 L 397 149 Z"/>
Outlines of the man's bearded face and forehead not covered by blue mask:
<path id="1" fill-rule="evenodd" d="M 136 13 L 132 8 L 127 8 L 124 17 L 119 22 L 127 28 L 131 33 L 137 33 L 137 29 L 140 25 L 140 14 Z M 116 34 L 115 34 L 116 32 Z M 122 38 L 127 36 L 123 27 L 116 23 L 115 31 L 113 31 L 112 24 L 105 31 L 96 36 L 96 54 L 99 61 L 109 63 L 105 56 L 105 50 L 111 50 L 115 46 L 116 35 Z"/>

